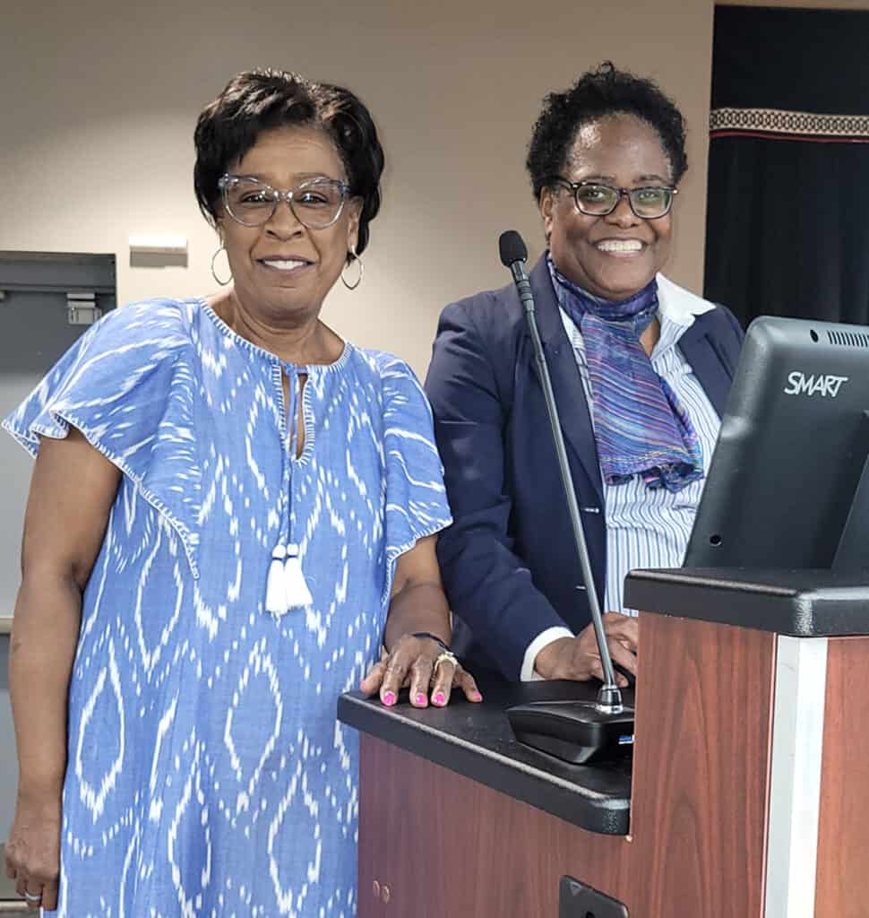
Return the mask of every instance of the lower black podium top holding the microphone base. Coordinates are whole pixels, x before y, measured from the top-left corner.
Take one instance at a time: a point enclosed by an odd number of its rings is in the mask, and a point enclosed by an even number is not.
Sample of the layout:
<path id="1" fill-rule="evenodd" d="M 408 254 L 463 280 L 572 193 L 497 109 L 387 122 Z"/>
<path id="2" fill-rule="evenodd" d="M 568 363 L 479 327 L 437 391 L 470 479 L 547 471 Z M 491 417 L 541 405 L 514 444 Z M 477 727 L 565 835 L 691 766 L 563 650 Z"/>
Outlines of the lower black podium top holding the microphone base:
<path id="1" fill-rule="evenodd" d="M 475 673 L 481 704 L 453 689 L 446 708 L 413 708 L 403 691 L 398 704 L 349 692 L 338 700 L 338 719 L 362 733 L 405 749 L 499 790 L 588 832 L 626 835 L 630 811 L 630 760 L 608 765 L 569 765 L 519 744 L 507 708 L 525 701 L 594 700 L 597 683 L 510 683 Z M 623 689 L 625 701 L 633 693 Z"/>

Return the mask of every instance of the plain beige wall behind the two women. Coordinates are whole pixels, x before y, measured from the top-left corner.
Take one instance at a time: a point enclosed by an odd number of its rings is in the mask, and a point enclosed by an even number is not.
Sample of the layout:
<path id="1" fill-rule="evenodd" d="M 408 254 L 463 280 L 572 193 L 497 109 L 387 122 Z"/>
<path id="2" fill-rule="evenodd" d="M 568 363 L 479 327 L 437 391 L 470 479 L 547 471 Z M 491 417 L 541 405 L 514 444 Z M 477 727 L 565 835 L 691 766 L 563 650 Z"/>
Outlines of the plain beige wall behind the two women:
<path id="1" fill-rule="evenodd" d="M 383 133 L 385 203 L 363 285 L 336 290 L 325 318 L 422 374 L 440 308 L 506 283 L 499 232 L 519 229 L 540 252 L 523 161 L 541 96 L 611 58 L 655 76 L 688 119 L 670 274 L 699 289 L 712 11 L 711 0 L 6 4 L 0 249 L 115 252 L 121 301 L 207 293 L 216 241 L 191 187 L 201 106 L 251 66 L 348 84 Z M 186 236 L 188 266 L 130 267 L 138 233 Z"/>

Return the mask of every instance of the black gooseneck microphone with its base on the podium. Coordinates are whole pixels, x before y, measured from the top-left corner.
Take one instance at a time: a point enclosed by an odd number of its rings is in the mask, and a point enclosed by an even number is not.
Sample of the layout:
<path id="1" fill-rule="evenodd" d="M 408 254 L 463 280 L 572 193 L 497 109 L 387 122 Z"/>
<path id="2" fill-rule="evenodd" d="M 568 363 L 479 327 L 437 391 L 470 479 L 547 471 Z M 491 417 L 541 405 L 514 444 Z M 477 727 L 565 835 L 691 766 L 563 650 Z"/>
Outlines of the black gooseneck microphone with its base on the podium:
<path id="1" fill-rule="evenodd" d="M 632 746 L 633 709 L 622 704 L 621 691 L 616 685 L 616 675 L 613 671 L 612 657 L 609 655 L 604 621 L 600 613 L 600 604 L 597 601 L 595 577 L 576 501 L 574 479 L 567 461 L 558 406 L 555 404 L 549 366 L 546 363 L 543 343 L 540 341 L 540 330 L 537 327 L 534 295 L 531 292 L 531 285 L 525 270 L 528 249 L 515 229 L 508 229 L 507 232 L 501 234 L 498 248 L 501 263 L 513 275 L 519 300 L 525 309 L 535 362 L 540 371 L 546 411 L 549 415 L 552 442 L 562 477 L 564 498 L 574 531 L 576 555 L 582 570 L 585 594 L 588 597 L 588 607 L 591 610 L 592 624 L 595 628 L 597 652 L 600 655 L 604 672 L 603 685 L 598 689 L 596 702 L 531 702 L 511 708 L 507 714 L 521 742 L 570 761 L 588 762 L 596 758 L 623 754 Z"/>

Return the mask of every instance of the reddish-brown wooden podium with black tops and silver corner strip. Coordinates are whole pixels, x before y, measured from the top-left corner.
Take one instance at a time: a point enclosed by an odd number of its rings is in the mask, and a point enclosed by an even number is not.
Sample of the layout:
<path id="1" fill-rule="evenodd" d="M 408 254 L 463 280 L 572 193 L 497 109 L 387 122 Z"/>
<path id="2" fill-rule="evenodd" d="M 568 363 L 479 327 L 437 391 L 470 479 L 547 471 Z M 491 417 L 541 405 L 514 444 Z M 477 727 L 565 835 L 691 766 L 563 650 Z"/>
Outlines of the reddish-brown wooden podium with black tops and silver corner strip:
<path id="1" fill-rule="evenodd" d="M 362 731 L 359 918 L 869 916 L 869 587 L 636 571 L 626 595 L 649 610 L 632 770 L 515 742 L 510 703 L 582 684 L 340 699 Z M 613 904 L 572 910 L 564 876 Z"/>

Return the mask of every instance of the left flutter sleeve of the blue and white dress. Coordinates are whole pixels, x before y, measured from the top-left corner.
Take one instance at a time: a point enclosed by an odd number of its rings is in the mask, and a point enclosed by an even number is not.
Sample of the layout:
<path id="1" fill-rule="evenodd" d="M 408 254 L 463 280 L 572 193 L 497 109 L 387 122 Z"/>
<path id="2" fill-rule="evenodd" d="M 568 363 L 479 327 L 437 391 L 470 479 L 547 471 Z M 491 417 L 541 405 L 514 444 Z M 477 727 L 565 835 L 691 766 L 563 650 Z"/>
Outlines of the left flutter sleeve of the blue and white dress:
<path id="1" fill-rule="evenodd" d="M 201 471 L 196 375 L 185 304 L 150 300 L 108 313 L 76 341 L 3 427 L 36 456 L 71 427 L 117 465 L 195 549 Z"/>

